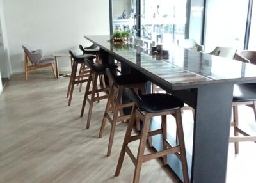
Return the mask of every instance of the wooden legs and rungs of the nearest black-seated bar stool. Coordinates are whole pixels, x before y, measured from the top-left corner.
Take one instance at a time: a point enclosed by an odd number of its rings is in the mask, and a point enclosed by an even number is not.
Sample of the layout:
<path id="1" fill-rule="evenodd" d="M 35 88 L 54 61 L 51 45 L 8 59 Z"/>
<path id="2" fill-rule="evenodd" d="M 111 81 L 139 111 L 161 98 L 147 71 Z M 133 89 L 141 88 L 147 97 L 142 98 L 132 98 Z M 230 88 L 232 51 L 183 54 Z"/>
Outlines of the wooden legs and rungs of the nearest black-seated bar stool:
<path id="1" fill-rule="evenodd" d="M 168 115 L 168 114 L 176 116 L 176 123 L 177 123 L 177 129 L 178 129 L 177 133 L 179 136 L 179 145 L 177 145 L 175 147 L 172 147 L 172 145 L 170 145 L 170 143 L 168 143 L 168 141 L 166 140 L 167 139 L 166 115 Z M 143 130 L 142 130 L 141 134 L 131 136 L 132 129 L 133 129 L 134 123 L 136 121 L 136 116 L 139 116 L 139 118 L 141 120 L 143 120 Z M 156 131 L 149 131 L 150 118 L 152 118 L 154 116 L 162 116 L 161 129 L 158 129 Z M 159 152 L 144 155 L 145 146 L 146 146 L 148 136 L 154 136 L 157 134 L 162 134 L 162 136 L 163 136 L 164 149 Z M 138 154 L 137 154 L 137 158 L 136 158 L 132 154 L 131 149 L 128 147 L 128 144 L 130 142 L 136 141 L 138 139 L 140 139 L 140 145 L 138 148 Z M 184 176 L 184 182 L 188 183 L 189 182 L 188 164 L 187 164 L 187 160 L 186 160 L 186 150 L 185 150 L 184 134 L 183 134 L 183 127 L 182 127 L 182 117 L 181 117 L 180 109 L 162 112 L 162 113 L 143 113 L 142 111 L 140 111 L 140 109 L 138 109 L 138 107 L 136 105 L 134 105 L 132 107 L 131 120 L 129 121 L 129 124 L 127 127 L 127 131 L 126 131 L 125 138 L 124 138 L 124 143 L 122 145 L 122 150 L 120 152 L 118 164 L 116 166 L 115 176 L 120 175 L 120 171 L 121 171 L 122 164 L 124 161 L 125 153 L 127 153 L 129 155 L 129 157 L 132 160 L 132 163 L 134 163 L 134 165 L 135 165 L 133 183 L 138 183 L 140 181 L 141 166 L 144 162 L 149 161 L 151 159 L 163 157 L 163 164 L 166 165 L 168 154 L 175 154 L 180 159 L 181 164 L 182 164 L 182 173 Z"/>

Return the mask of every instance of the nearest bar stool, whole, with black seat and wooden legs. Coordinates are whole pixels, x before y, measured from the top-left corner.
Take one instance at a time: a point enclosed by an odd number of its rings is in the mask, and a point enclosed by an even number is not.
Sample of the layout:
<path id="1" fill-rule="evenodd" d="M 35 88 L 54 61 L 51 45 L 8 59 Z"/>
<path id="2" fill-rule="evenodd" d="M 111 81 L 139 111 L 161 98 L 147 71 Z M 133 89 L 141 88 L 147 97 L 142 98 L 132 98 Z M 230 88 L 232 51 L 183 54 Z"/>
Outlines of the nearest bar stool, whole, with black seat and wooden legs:
<path id="1" fill-rule="evenodd" d="M 184 182 L 189 182 L 188 178 L 188 166 L 186 161 L 186 150 L 184 144 L 184 134 L 182 127 L 182 118 L 181 118 L 181 108 L 184 106 L 184 103 L 179 99 L 168 94 L 148 94 L 141 95 L 139 97 L 131 89 L 125 88 L 125 94 L 135 103 L 132 107 L 131 120 L 127 127 L 127 131 L 124 138 L 124 143 L 122 150 L 120 152 L 120 157 L 118 159 L 118 164 L 116 166 L 115 176 L 120 174 L 122 168 L 122 163 L 124 161 L 125 152 L 132 159 L 132 162 L 135 165 L 134 178 L 133 182 L 138 183 L 140 180 L 140 171 L 142 163 L 149 161 L 151 159 L 156 159 L 158 157 L 163 157 L 163 164 L 167 164 L 167 154 L 175 154 L 180 159 L 182 164 L 182 173 L 184 177 Z M 179 145 L 173 147 L 167 141 L 167 131 L 166 131 L 166 115 L 172 114 L 176 117 L 177 124 L 177 134 L 179 137 Z M 139 116 L 143 120 L 143 130 L 141 134 L 136 136 L 131 136 L 132 127 L 136 116 Z M 162 124 L 161 129 L 156 131 L 149 132 L 150 118 L 154 116 L 161 116 Z M 148 136 L 154 136 L 157 134 L 162 134 L 163 137 L 163 150 L 160 152 L 155 152 L 152 154 L 144 155 L 144 150 L 146 146 L 146 141 Z M 128 144 L 132 141 L 140 139 L 140 145 L 138 148 L 137 158 L 134 157 Z"/>

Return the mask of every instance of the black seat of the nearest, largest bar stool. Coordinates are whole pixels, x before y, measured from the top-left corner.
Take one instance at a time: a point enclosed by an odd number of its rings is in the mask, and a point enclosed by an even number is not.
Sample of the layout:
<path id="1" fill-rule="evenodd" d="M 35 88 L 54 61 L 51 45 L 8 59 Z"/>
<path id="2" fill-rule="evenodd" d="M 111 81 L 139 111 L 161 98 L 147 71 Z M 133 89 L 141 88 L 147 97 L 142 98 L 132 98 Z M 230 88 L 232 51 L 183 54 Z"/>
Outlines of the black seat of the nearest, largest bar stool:
<path id="1" fill-rule="evenodd" d="M 154 93 L 139 97 L 129 88 L 125 88 L 125 94 L 136 103 L 141 111 L 147 113 L 160 113 L 184 107 L 184 102 L 169 94 Z"/>

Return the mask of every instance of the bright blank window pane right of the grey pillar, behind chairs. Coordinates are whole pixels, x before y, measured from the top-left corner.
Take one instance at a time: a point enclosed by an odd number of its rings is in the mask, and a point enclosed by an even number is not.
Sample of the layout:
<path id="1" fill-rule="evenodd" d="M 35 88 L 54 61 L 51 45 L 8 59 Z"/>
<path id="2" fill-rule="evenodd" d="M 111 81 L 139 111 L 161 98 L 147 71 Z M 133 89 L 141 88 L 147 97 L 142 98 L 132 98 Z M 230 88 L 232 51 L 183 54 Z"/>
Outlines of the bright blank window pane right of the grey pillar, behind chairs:
<path id="1" fill-rule="evenodd" d="M 249 0 L 209 0 L 207 4 L 205 51 L 216 46 L 244 48 Z"/>

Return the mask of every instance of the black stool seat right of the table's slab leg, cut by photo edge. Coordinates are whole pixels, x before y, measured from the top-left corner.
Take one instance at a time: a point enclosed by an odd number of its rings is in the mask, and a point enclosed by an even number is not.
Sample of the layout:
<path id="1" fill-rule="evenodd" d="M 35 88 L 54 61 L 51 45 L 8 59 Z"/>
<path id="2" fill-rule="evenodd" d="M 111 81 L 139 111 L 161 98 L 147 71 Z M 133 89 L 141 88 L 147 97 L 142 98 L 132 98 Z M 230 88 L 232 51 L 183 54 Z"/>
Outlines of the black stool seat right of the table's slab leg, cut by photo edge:
<path id="1" fill-rule="evenodd" d="M 256 83 L 235 84 L 233 102 L 249 102 L 256 100 Z"/>

